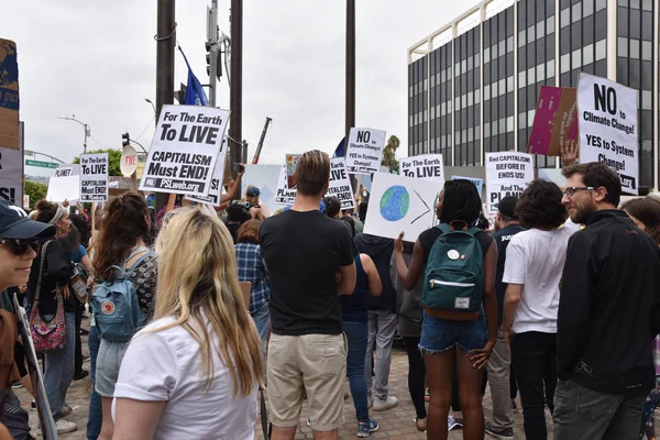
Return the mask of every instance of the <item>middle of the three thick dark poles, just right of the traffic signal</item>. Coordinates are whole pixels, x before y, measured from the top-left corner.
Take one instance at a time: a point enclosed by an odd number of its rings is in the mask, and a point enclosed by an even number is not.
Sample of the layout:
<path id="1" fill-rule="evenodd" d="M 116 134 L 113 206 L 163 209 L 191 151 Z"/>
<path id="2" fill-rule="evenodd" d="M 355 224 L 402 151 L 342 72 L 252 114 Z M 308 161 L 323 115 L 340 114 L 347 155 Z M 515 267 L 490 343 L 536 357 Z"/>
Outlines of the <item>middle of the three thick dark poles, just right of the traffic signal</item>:
<path id="1" fill-rule="evenodd" d="M 229 155 L 231 163 L 241 162 L 243 140 L 243 0 L 231 0 L 231 98 L 229 119 Z M 232 170 L 232 177 L 235 173 Z"/>

